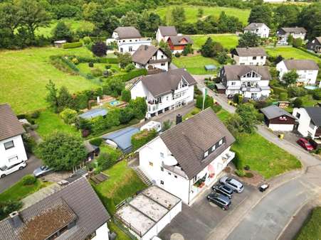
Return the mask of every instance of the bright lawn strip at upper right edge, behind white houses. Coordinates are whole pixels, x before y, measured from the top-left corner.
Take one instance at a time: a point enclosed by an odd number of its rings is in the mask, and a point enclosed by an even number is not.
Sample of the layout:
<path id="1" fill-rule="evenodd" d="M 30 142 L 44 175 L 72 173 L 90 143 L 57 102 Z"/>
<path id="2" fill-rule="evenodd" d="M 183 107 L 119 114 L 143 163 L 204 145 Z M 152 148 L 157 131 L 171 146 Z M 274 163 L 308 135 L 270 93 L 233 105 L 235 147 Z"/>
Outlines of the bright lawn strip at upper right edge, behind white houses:
<path id="1" fill-rule="evenodd" d="M 321 62 L 320 58 L 317 58 L 316 56 L 305 53 L 304 51 L 298 49 L 298 48 L 292 48 L 292 47 L 277 47 L 277 48 L 265 48 L 268 55 L 271 56 L 278 56 L 282 55 L 285 59 L 310 59 L 315 60 L 316 62 Z"/>

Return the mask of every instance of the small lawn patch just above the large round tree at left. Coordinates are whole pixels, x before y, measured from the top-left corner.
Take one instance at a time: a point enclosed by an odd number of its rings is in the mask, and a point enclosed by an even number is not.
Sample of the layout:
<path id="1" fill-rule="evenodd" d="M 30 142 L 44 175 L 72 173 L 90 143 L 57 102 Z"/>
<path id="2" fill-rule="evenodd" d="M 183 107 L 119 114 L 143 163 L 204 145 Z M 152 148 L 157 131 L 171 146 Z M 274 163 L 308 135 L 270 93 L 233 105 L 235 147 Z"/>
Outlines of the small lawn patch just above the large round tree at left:
<path id="1" fill-rule="evenodd" d="M 65 124 L 63 119 L 60 119 L 58 114 L 53 113 L 53 111 L 47 109 L 41 111 L 38 119 L 35 120 L 38 124 L 38 129 L 36 131 L 41 137 L 44 137 L 54 131 L 60 131 L 64 133 L 70 133 L 75 136 L 80 136 L 80 132 L 74 126 Z"/>

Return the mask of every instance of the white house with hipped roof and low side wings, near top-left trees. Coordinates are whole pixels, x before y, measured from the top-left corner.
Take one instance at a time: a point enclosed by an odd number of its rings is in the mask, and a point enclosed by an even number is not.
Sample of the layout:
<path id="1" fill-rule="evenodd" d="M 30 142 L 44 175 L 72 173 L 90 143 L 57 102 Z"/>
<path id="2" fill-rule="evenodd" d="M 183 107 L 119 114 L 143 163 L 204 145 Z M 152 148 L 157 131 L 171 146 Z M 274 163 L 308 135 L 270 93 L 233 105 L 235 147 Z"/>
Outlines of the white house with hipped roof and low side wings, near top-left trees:
<path id="1" fill-rule="evenodd" d="M 134 53 L 140 45 L 151 45 L 151 38 L 142 38 L 140 31 L 134 27 L 118 27 L 112 33 L 112 38 L 106 40 L 107 45 L 116 41 L 120 53 Z"/>

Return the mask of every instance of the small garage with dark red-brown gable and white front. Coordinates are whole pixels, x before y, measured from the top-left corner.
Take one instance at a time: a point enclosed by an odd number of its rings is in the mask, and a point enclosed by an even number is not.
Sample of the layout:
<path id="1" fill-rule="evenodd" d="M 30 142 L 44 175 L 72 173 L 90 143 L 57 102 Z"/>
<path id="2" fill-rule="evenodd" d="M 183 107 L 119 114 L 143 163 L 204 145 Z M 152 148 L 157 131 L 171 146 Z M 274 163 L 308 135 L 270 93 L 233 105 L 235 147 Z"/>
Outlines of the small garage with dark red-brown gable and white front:
<path id="1" fill-rule="evenodd" d="M 265 124 L 273 131 L 293 131 L 295 116 L 280 107 L 271 105 L 261 109 L 264 114 Z"/>

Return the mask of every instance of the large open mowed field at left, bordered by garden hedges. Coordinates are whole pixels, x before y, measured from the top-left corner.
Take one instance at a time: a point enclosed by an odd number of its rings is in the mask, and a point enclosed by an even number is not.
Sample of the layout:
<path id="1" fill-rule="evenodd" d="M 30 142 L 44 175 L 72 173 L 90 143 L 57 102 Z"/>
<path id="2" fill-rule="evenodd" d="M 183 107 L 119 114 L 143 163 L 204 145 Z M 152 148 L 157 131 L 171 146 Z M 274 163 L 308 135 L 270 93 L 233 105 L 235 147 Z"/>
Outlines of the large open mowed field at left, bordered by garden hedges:
<path id="1" fill-rule="evenodd" d="M 65 85 L 70 92 L 97 87 L 79 75 L 69 75 L 51 65 L 51 55 L 92 56 L 87 48 L 60 49 L 53 47 L 0 51 L 0 103 L 11 104 L 16 114 L 46 107 L 46 84 Z"/>

